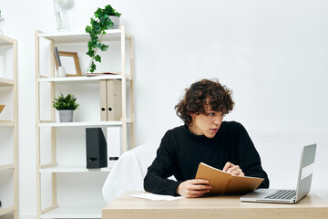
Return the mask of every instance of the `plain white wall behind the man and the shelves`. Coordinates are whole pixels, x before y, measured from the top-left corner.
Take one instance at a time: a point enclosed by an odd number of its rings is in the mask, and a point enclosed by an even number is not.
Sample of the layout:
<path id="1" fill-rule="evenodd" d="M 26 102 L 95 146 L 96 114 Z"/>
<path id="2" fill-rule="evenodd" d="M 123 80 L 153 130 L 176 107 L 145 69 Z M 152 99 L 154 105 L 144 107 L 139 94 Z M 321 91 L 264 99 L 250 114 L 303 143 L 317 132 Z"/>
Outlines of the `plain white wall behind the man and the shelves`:
<path id="1" fill-rule="evenodd" d="M 103 0 L 76 0 L 83 31 Z M 135 37 L 136 143 L 181 124 L 174 105 L 200 78 L 219 78 L 248 129 L 327 128 L 328 2 L 110 1 Z M 1 0 L 0 29 L 18 41 L 20 214 L 36 214 L 35 30 L 56 28 L 50 0 Z M 327 145 L 324 145 L 327 147 Z M 22 217 L 22 218 L 23 218 Z"/>

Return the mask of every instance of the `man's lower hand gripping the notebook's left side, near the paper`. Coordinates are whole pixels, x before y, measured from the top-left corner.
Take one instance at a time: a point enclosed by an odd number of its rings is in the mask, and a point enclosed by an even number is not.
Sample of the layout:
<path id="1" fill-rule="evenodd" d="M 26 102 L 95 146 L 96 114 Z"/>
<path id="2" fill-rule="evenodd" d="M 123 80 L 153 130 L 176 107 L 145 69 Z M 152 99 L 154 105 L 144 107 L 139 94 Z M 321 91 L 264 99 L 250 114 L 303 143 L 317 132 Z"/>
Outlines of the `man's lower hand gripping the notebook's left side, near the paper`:
<path id="1" fill-rule="evenodd" d="M 205 193 L 210 193 L 210 188 L 207 180 L 189 180 L 179 184 L 177 193 L 186 198 L 197 198 Z"/>

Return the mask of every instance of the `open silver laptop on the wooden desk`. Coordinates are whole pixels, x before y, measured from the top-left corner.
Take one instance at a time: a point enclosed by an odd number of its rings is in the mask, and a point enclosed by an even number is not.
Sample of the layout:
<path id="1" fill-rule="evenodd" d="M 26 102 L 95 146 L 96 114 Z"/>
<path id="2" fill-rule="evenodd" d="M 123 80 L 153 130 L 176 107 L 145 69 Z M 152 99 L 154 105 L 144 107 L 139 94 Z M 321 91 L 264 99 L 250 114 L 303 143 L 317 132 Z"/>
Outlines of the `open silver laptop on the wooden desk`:
<path id="1" fill-rule="evenodd" d="M 302 148 L 301 164 L 296 190 L 257 189 L 241 196 L 241 202 L 252 203 L 297 203 L 310 192 L 313 178 L 313 163 L 316 144 Z"/>

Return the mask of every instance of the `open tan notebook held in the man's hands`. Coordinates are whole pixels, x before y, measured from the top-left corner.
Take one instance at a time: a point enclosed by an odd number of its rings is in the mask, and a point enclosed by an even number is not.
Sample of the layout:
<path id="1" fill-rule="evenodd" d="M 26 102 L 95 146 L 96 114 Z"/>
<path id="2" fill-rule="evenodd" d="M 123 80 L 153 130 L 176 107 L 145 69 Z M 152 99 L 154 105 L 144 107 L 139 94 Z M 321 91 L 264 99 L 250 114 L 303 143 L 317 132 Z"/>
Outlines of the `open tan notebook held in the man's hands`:
<path id="1" fill-rule="evenodd" d="M 195 179 L 210 181 L 210 193 L 248 193 L 254 191 L 263 178 L 235 176 L 200 162 Z"/>

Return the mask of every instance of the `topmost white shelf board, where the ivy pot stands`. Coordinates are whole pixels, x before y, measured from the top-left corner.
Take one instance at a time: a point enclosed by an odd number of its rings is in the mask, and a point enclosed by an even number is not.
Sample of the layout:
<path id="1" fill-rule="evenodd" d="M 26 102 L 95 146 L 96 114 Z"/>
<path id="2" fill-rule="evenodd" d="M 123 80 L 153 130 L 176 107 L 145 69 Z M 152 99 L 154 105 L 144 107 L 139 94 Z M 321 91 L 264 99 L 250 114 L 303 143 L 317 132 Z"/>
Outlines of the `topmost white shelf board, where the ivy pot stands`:
<path id="1" fill-rule="evenodd" d="M 120 29 L 109 29 L 106 30 L 106 33 L 102 38 L 103 41 L 120 40 Z M 89 34 L 85 32 L 40 33 L 38 36 L 54 40 L 56 44 L 86 43 L 90 38 Z M 127 31 L 125 31 L 125 36 L 126 38 L 130 37 Z"/>

